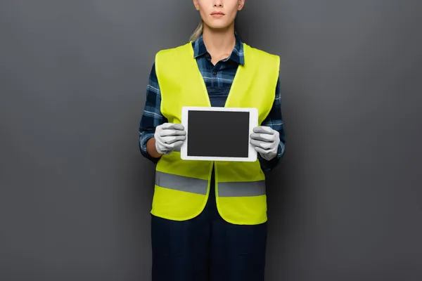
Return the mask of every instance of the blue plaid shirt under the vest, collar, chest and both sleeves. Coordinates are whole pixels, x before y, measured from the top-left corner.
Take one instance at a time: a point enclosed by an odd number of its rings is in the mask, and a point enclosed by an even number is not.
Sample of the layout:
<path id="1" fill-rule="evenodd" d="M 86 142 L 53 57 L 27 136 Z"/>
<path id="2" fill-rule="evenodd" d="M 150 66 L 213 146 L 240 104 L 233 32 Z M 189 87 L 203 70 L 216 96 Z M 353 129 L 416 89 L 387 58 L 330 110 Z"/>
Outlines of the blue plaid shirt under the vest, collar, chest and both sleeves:
<path id="1" fill-rule="evenodd" d="M 202 35 L 192 42 L 193 53 L 198 63 L 198 68 L 205 81 L 210 102 L 213 107 L 223 107 L 226 98 L 229 95 L 230 87 L 238 65 L 245 64 L 245 56 L 243 53 L 243 43 L 236 35 L 236 45 L 231 52 L 229 58 L 220 60 L 216 65 L 212 65 L 211 56 L 207 52 Z M 262 122 L 262 126 L 269 126 L 280 133 L 280 145 L 277 157 L 267 161 L 262 159 L 258 154 L 258 159 L 263 171 L 271 171 L 280 161 L 284 154 L 286 144 L 286 136 L 284 132 L 283 119 L 281 117 L 281 95 L 280 95 L 280 79 L 276 86 L 276 97 L 274 104 L 267 118 Z M 146 143 L 153 138 L 155 128 L 167 122 L 167 119 L 160 112 L 160 85 L 158 84 L 157 75 L 155 74 L 155 65 L 153 64 L 151 74 L 146 89 L 146 105 L 143 110 L 141 122 L 139 124 L 139 148 L 144 157 L 153 162 L 158 162 L 157 158 L 151 157 L 146 150 Z"/>

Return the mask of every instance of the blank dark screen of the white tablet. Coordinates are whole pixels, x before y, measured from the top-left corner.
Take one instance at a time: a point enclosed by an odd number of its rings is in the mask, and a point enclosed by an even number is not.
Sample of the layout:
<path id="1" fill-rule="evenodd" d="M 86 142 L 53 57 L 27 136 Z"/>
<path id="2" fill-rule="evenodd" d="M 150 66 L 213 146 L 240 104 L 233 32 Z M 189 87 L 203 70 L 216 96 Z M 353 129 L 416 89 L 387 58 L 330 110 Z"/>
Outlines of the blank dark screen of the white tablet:
<path id="1" fill-rule="evenodd" d="M 249 112 L 188 111 L 188 156 L 248 157 Z"/>

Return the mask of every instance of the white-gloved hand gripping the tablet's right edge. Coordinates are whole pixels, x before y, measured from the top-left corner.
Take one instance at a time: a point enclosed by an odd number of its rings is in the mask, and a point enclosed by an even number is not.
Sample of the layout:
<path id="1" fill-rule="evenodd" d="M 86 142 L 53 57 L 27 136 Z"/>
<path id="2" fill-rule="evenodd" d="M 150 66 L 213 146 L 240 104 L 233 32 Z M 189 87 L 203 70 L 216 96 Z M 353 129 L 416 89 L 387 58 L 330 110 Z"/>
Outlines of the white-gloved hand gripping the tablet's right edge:
<path id="1" fill-rule="evenodd" d="M 250 134 L 250 144 L 267 161 L 276 157 L 279 150 L 280 133 L 268 126 L 257 126 Z"/>

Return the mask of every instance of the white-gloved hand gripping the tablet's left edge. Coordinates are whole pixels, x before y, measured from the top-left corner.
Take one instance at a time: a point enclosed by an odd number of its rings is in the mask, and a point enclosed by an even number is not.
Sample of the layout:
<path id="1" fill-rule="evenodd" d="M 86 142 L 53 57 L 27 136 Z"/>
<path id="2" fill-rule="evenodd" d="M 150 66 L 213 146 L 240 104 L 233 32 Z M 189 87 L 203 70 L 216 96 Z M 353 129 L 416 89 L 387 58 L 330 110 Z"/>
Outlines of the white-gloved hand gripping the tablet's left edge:
<path id="1" fill-rule="evenodd" d="M 182 124 L 164 123 L 155 128 L 155 149 L 160 154 L 169 154 L 186 140 Z"/>

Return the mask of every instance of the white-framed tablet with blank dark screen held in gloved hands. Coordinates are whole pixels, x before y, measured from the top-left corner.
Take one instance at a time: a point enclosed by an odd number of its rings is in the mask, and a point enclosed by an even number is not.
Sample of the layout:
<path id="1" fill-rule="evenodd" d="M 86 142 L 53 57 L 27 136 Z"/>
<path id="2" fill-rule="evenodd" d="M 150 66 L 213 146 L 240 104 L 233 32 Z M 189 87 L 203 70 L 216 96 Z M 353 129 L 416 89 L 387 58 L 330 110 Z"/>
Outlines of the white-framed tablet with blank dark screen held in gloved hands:
<path id="1" fill-rule="evenodd" d="M 182 107 L 181 124 L 186 130 L 181 159 L 243 162 L 257 159 L 249 137 L 258 125 L 256 108 Z"/>

